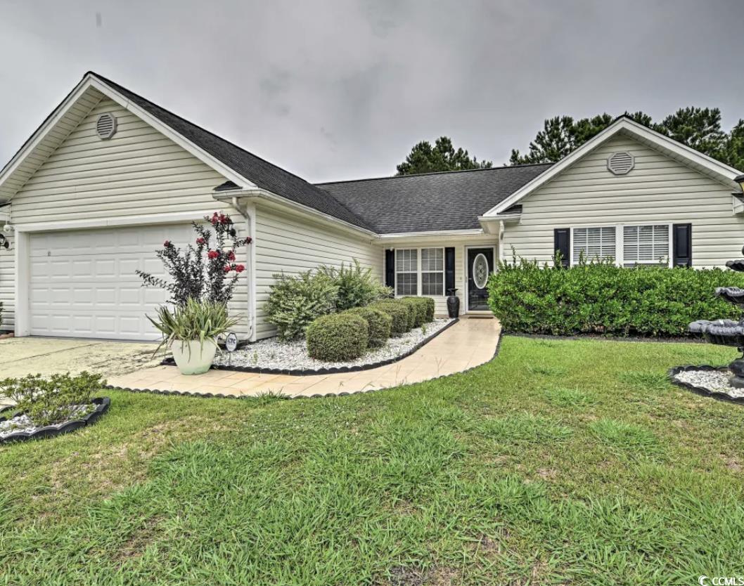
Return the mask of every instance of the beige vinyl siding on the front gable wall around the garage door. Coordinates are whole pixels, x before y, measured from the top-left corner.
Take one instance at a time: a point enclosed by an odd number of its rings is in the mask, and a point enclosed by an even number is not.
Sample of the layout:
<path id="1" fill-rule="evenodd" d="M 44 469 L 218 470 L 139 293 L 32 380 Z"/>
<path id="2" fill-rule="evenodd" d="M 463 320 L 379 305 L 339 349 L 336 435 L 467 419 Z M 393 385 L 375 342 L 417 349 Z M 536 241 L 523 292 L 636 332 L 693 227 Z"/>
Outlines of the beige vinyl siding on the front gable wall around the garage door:
<path id="1" fill-rule="evenodd" d="M 117 118 L 117 132 L 107 141 L 95 132 L 97 117 L 103 112 Z M 240 236 L 245 236 L 243 217 L 212 197 L 214 187 L 224 181 L 211 167 L 106 98 L 48 154 L 16 193 L 11 219 L 22 225 L 170 212 L 208 214 L 222 207 L 237 222 Z M 13 261 L 7 257 L 0 254 L 0 300 L 13 297 L 9 284 Z M 246 264 L 245 251 L 238 255 L 237 262 Z M 246 315 L 247 272 L 240 280 L 231 311 Z M 5 317 L 12 321 L 12 312 Z M 246 334 L 247 320 L 237 329 Z"/>

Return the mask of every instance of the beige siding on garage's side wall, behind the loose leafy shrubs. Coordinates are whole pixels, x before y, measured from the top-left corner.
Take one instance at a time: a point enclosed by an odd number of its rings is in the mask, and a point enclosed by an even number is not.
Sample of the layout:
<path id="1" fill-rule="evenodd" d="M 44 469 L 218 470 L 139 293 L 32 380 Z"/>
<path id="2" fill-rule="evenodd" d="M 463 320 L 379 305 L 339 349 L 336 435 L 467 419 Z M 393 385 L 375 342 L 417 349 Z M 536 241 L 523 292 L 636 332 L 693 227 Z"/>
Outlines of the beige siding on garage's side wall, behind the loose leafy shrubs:
<path id="1" fill-rule="evenodd" d="M 256 210 L 256 337 L 275 335 L 266 322 L 264 305 L 275 274 L 297 274 L 318 265 L 339 266 L 354 259 L 382 280 L 384 253 L 372 244 L 373 236 L 356 236 L 315 222 L 307 216 L 284 213 L 268 207 Z"/>

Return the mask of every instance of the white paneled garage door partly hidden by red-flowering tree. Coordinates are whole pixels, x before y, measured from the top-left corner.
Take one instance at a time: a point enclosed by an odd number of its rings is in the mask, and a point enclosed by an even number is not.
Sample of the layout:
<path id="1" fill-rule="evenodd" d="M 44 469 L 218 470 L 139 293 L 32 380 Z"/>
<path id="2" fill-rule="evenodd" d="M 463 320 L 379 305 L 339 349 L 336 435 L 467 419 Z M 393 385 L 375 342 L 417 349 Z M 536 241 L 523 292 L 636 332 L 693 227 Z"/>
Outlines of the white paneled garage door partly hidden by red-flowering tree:
<path id="1" fill-rule="evenodd" d="M 145 316 L 168 295 L 142 287 L 135 270 L 165 277 L 155 251 L 191 239 L 187 224 L 32 234 L 31 335 L 158 339 Z"/>

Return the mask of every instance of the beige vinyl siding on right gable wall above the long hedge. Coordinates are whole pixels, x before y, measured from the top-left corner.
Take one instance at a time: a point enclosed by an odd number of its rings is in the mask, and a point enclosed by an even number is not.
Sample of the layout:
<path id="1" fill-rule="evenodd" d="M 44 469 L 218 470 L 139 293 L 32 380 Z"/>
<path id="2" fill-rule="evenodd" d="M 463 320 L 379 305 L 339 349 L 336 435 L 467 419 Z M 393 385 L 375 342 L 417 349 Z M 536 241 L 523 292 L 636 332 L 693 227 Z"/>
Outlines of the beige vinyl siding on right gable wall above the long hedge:
<path id="1" fill-rule="evenodd" d="M 625 176 L 607 170 L 612 152 L 626 150 L 635 168 Z M 503 254 L 550 262 L 554 228 L 692 223 L 693 265 L 723 266 L 740 255 L 744 217 L 731 212 L 731 187 L 686 167 L 626 135 L 594 149 L 522 199 L 519 224 L 507 224 Z"/>

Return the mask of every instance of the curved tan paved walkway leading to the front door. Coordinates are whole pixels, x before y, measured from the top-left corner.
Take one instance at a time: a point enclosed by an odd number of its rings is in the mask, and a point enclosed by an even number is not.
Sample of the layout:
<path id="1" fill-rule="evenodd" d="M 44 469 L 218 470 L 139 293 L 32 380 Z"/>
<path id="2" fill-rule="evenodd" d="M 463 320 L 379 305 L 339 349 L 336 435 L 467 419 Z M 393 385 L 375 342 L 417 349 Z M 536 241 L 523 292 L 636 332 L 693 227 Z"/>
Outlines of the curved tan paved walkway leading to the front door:
<path id="1" fill-rule="evenodd" d="M 436 379 L 484 364 L 493 358 L 500 332 L 496 319 L 462 318 L 407 358 L 356 373 L 286 376 L 210 370 L 198 376 L 183 376 L 175 366 L 158 366 L 109 377 L 109 384 L 130 389 L 234 396 L 269 392 L 289 396 L 354 393 Z"/>

